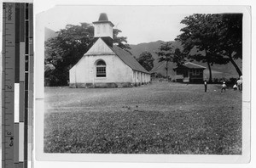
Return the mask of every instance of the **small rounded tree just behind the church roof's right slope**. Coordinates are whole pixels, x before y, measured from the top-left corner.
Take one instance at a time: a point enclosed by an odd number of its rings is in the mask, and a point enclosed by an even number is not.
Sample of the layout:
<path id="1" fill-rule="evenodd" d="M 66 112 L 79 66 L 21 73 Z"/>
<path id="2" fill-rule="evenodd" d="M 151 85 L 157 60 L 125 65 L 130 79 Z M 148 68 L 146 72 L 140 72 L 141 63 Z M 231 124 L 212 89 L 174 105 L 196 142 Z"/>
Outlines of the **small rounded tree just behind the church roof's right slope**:
<path id="1" fill-rule="evenodd" d="M 154 58 L 149 52 L 141 53 L 137 61 L 145 68 L 145 70 L 150 71 L 154 67 Z"/>

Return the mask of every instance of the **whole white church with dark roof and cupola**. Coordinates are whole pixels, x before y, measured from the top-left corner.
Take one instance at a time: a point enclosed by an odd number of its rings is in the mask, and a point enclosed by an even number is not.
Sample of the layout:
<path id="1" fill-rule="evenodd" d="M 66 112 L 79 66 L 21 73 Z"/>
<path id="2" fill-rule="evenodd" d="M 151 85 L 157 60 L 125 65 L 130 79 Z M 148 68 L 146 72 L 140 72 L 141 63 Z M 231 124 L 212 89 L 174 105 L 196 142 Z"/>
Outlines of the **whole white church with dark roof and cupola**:
<path id="1" fill-rule="evenodd" d="M 69 70 L 69 86 L 133 87 L 147 84 L 150 73 L 131 55 L 113 45 L 113 23 L 100 14 L 94 24 L 95 43 Z"/>

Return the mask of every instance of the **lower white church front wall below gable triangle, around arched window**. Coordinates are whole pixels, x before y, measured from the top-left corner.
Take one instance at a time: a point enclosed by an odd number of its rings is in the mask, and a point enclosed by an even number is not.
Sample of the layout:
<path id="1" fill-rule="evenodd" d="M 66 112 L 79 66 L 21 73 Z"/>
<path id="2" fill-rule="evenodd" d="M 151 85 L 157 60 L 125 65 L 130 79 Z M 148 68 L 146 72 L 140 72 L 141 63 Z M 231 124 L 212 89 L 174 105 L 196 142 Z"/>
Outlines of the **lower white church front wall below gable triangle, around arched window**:
<path id="1" fill-rule="evenodd" d="M 96 77 L 96 62 L 100 59 L 106 63 L 106 77 Z M 74 87 L 73 83 L 76 87 L 96 83 L 132 83 L 132 73 L 131 68 L 116 55 L 84 56 L 73 70 L 70 70 L 70 86 Z"/>

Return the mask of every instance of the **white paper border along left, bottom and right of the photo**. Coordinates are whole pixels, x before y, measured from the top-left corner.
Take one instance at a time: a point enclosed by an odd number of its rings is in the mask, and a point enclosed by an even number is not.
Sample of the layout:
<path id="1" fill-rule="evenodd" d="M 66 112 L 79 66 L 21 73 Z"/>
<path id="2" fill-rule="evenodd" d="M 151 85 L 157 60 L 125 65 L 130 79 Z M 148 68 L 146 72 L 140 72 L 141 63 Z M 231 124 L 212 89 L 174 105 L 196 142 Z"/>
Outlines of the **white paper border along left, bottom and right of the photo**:
<path id="1" fill-rule="evenodd" d="M 178 7 L 178 6 L 177 6 Z M 181 6 L 179 6 L 181 7 Z M 196 8 L 196 6 L 182 6 Z M 179 162 L 179 163 L 247 163 L 250 160 L 250 103 L 251 103 L 251 13 L 249 7 L 214 6 L 243 13 L 243 95 L 242 95 L 242 155 L 193 154 L 44 154 L 44 16 L 36 16 L 35 51 L 35 137 L 37 160 L 62 161 L 121 161 L 121 162 Z M 198 13 L 211 13 L 212 6 L 203 6 Z M 235 9 L 235 10 L 234 10 Z"/>

